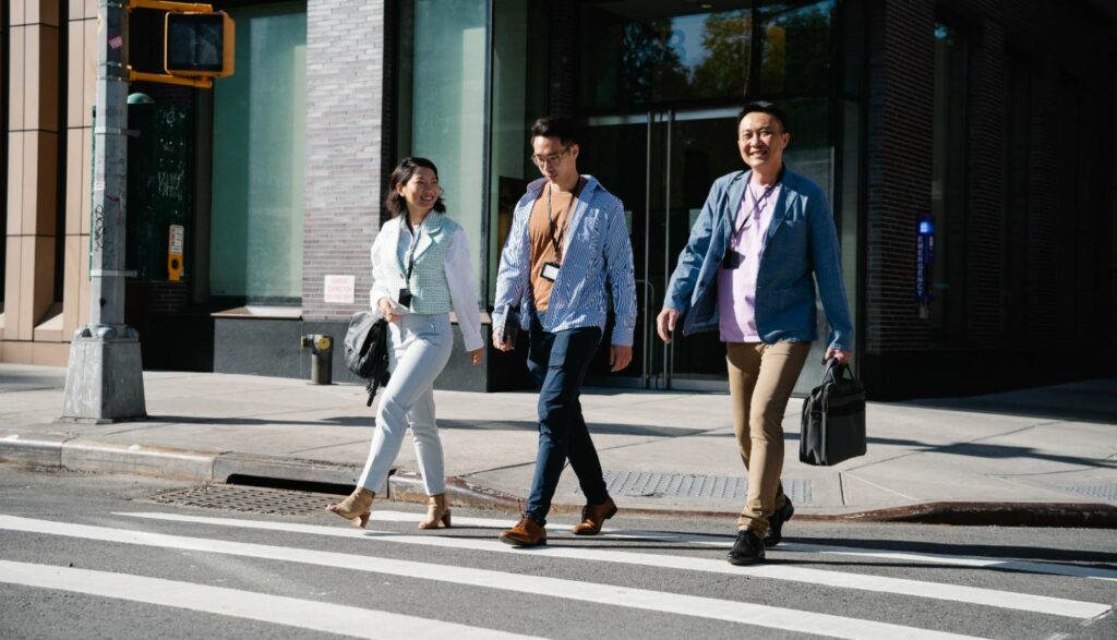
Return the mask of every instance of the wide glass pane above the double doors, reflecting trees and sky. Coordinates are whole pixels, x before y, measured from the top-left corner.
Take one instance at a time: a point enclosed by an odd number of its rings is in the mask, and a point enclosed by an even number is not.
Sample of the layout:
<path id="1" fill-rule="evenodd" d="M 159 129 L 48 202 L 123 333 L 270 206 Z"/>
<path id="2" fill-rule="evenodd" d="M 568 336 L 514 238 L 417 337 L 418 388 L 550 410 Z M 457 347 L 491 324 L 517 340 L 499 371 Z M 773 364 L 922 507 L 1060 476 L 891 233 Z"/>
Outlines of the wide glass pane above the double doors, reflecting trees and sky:
<path id="1" fill-rule="evenodd" d="M 582 75 L 585 106 L 828 90 L 836 0 L 719 4 L 588 3 L 583 51 L 594 73 Z"/>

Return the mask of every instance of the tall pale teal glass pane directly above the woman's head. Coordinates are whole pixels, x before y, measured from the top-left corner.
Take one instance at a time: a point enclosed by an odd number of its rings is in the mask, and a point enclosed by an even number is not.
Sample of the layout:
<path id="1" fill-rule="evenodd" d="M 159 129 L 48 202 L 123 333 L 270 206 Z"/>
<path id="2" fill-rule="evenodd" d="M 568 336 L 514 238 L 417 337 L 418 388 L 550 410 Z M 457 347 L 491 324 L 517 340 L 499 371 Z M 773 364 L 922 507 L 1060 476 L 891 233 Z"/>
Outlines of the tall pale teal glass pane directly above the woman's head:
<path id="1" fill-rule="evenodd" d="M 400 19 L 400 69 L 410 71 L 400 78 L 407 94 L 400 111 L 410 118 L 400 132 L 400 155 L 428 157 L 438 166 L 446 214 L 461 225 L 480 256 L 488 1 L 414 0 L 402 3 Z M 474 260 L 478 281 L 484 268 L 483 260 Z"/>

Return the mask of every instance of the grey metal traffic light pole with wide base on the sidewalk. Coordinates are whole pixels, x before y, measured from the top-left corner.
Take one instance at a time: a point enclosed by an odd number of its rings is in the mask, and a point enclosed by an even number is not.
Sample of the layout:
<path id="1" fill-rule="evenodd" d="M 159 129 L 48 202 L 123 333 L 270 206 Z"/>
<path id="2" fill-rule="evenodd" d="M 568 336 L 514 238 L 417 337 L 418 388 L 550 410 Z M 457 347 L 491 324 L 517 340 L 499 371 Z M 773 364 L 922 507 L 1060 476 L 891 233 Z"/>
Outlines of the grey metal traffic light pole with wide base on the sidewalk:
<path id="1" fill-rule="evenodd" d="M 140 336 L 124 324 L 127 202 L 126 0 L 98 0 L 97 111 L 89 324 L 74 334 L 63 417 L 111 422 L 146 415 Z"/>

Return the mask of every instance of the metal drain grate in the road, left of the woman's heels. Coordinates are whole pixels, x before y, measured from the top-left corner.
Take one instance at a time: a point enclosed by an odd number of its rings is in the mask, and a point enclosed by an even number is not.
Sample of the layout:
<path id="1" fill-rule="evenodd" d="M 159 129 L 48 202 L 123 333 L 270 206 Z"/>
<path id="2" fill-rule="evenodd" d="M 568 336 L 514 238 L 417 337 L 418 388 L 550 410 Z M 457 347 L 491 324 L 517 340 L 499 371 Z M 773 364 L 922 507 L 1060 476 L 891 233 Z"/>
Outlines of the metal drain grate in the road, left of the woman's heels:
<path id="1" fill-rule="evenodd" d="M 137 498 L 137 502 L 159 503 L 203 509 L 246 512 L 294 516 L 322 510 L 327 504 L 336 503 L 337 496 L 288 491 L 264 487 L 240 487 L 237 485 L 201 485 L 189 489 L 161 491 L 153 496 Z"/>

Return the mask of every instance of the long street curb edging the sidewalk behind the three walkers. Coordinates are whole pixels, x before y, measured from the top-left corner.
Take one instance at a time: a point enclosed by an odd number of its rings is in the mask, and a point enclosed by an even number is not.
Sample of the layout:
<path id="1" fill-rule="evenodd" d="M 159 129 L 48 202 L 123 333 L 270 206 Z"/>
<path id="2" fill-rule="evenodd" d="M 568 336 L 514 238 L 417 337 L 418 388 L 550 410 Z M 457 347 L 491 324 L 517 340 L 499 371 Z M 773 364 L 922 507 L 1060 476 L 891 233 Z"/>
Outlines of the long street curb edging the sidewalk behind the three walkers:
<path id="1" fill-rule="evenodd" d="M 86 440 L 61 433 L 0 433 L 0 464 L 21 468 L 65 469 L 98 474 L 159 476 L 192 481 L 249 484 L 257 486 L 317 485 L 349 490 L 360 468 L 321 460 L 150 447 Z M 427 502 L 422 479 L 416 472 L 392 474 L 388 498 L 405 503 Z M 454 504 L 508 512 L 523 512 L 526 500 L 461 477 L 449 477 L 446 491 Z M 553 514 L 581 514 L 580 505 L 552 506 Z M 736 512 L 623 508 L 623 515 L 679 518 L 732 518 Z M 1117 529 L 1117 506 L 1082 503 L 962 503 L 937 502 L 888 507 L 850 514 L 795 514 L 801 522 L 897 523 L 954 526 L 1027 526 Z"/>

